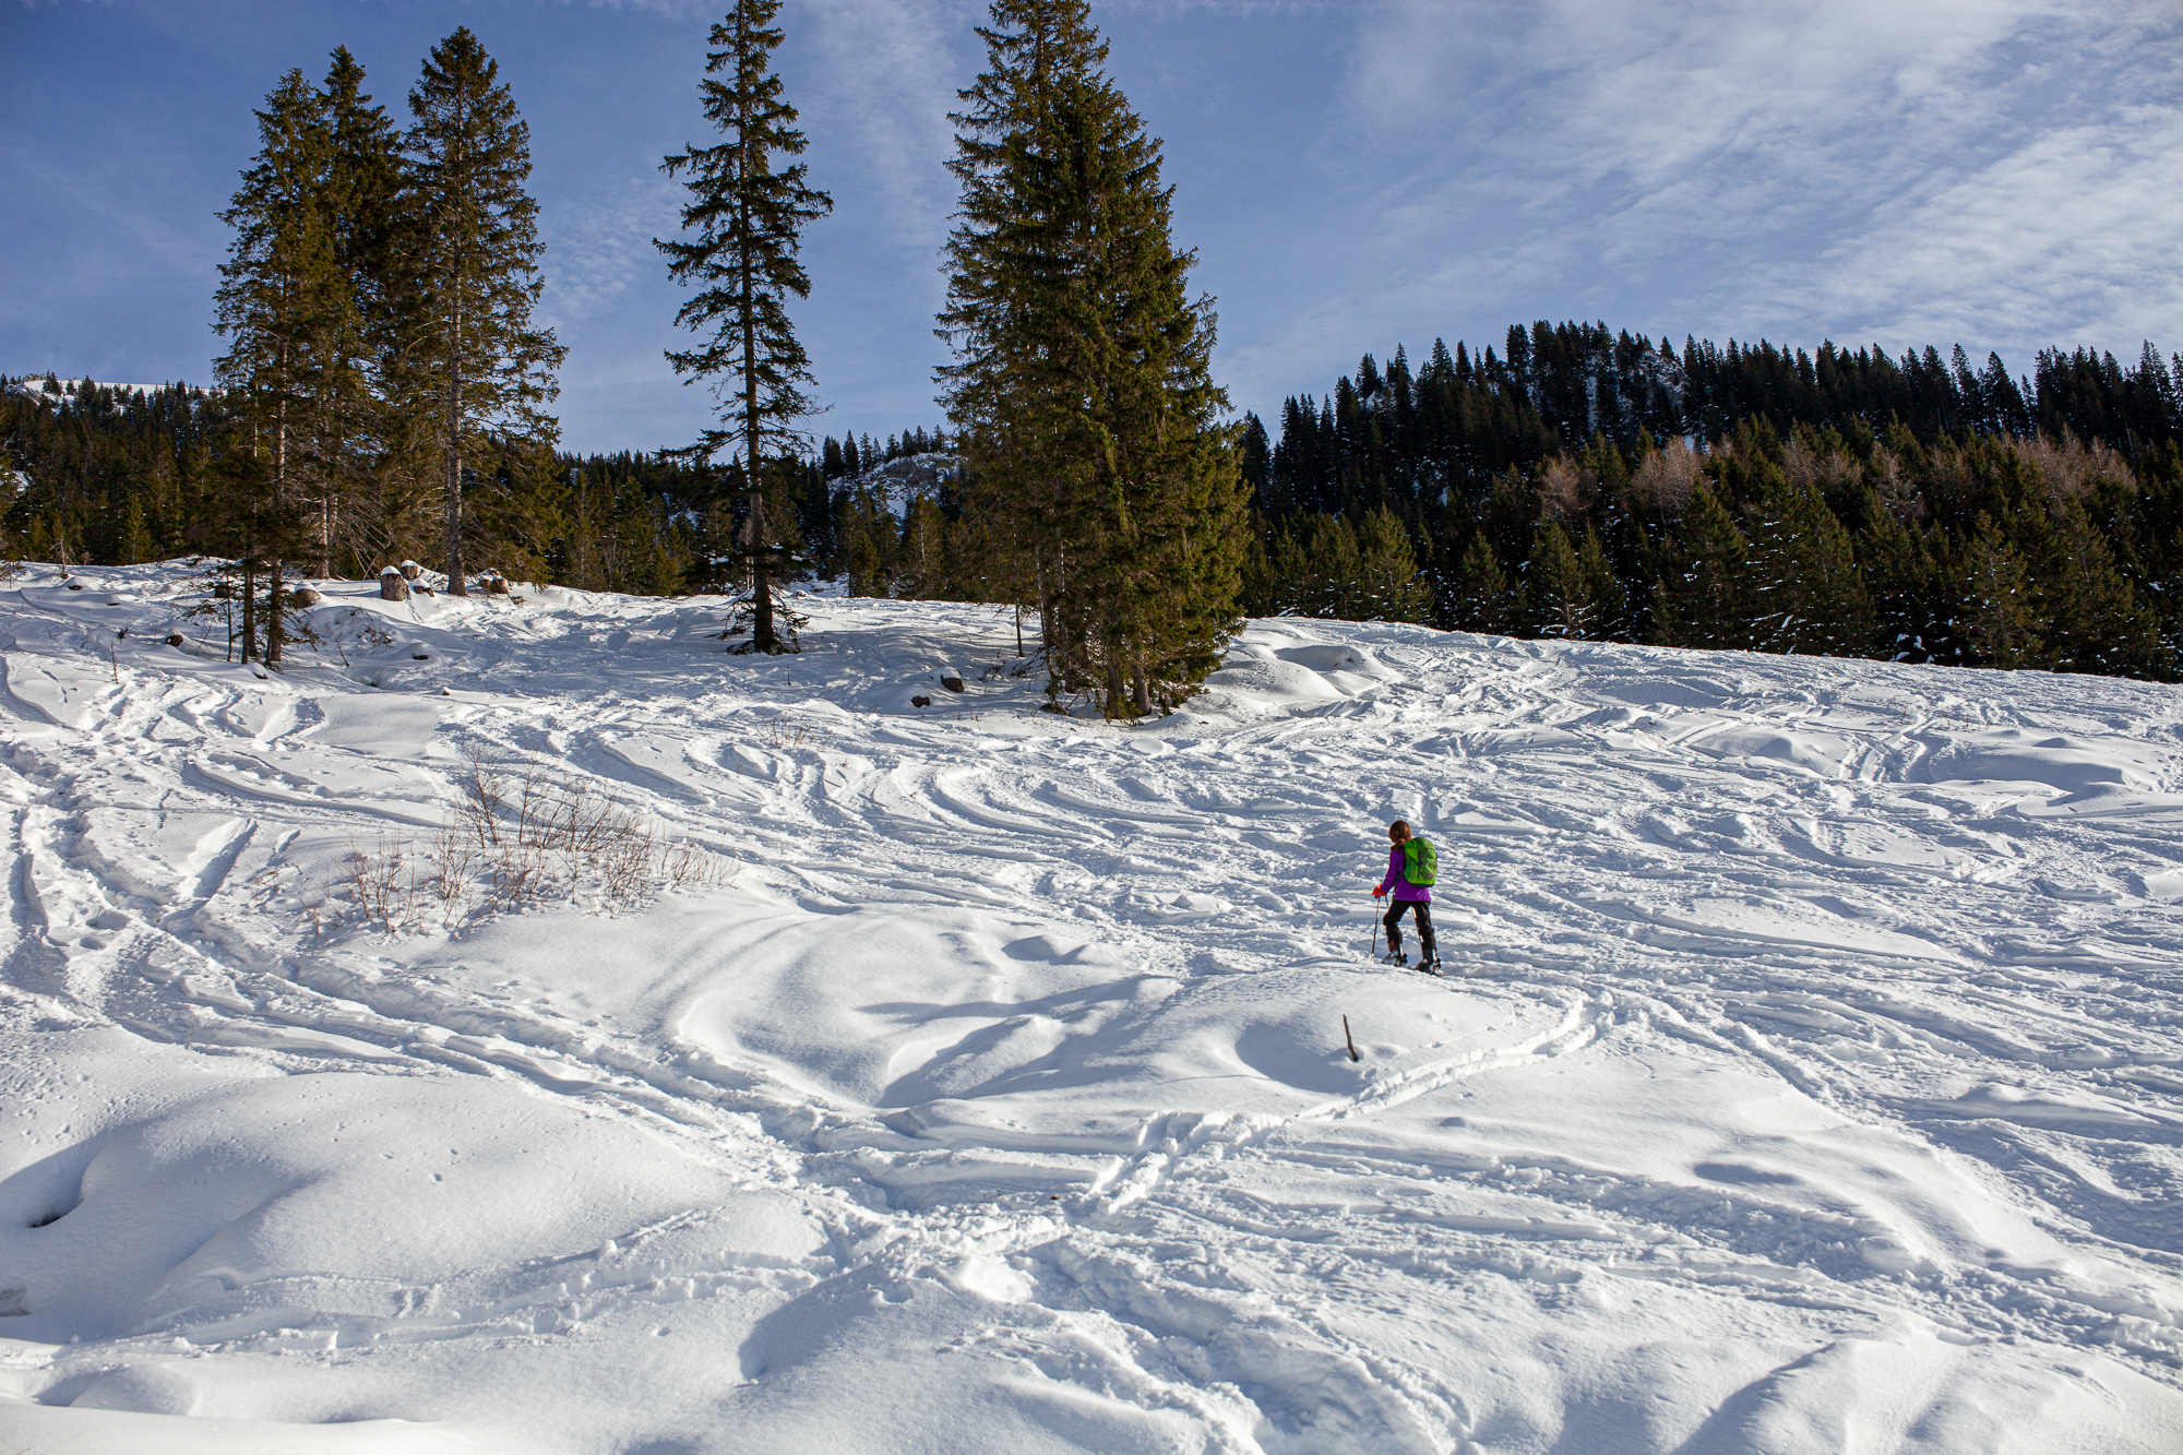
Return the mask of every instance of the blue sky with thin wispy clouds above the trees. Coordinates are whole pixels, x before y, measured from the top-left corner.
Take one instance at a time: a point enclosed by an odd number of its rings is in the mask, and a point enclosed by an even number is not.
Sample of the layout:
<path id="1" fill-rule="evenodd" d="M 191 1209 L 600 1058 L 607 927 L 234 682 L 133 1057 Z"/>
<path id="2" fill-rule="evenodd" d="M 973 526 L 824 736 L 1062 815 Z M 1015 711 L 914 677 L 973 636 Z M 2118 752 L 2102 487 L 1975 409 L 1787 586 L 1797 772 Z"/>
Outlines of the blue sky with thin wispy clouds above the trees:
<path id="1" fill-rule="evenodd" d="M 788 0 L 836 212 L 799 310 L 821 433 L 937 424 L 945 114 L 974 0 Z M 2168 0 L 1096 0 L 1168 144 L 1238 409 L 1364 352 L 1605 319 L 1890 350 L 2183 350 L 2183 7 Z M 705 140 L 712 4 L 0 0 L 0 369 L 203 380 L 251 107 L 347 44 L 397 116 L 467 24 L 533 131 L 578 450 L 688 441 L 661 350 L 664 153 Z"/>

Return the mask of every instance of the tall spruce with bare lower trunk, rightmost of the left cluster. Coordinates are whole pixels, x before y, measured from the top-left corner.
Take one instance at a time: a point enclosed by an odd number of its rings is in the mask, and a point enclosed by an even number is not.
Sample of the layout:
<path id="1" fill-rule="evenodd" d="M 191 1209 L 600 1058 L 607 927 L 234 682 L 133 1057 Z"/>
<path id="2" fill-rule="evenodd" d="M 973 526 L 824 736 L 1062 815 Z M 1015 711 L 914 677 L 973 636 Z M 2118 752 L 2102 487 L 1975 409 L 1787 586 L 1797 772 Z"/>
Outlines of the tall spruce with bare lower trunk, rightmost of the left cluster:
<path id="1" fill-rule="evenodd" d="M 397 269 L 395 402 L 430 422 L 441 454 L 448 590 L 463 579 L 465 457 L 485 437 L 550 443 L 544 404 L 563 350 L 530 310 L 546 291 L 530 177 L 530 127 L 467 26 L 426 57 L 410 92 Z"/>

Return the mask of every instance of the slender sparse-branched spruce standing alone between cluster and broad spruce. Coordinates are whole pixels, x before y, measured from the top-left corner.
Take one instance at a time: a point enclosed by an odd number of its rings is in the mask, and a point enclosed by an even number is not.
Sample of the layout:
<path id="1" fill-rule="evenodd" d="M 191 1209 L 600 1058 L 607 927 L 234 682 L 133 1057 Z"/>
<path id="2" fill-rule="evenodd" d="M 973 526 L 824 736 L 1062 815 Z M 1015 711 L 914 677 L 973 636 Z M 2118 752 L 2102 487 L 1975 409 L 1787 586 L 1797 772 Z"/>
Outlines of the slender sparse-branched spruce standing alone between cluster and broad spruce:
<path id="1" fill-rule="evenodd" d="M 790 454 L 806 441 L 799 422 L 812 413 L 803 393 L 812 385 L 810 356 L 788 321 L 788 299 L 810 297 L 810 275 L 797 258 L 803 225 L 834 210 L 834 199 L 803 184 L 806 166 L 775 166 L 803 153 L 797 109 L 782 98 L 773 26 L 782 0 L 736 0 L 712 28 L 705 52 L 705 118 L 725 138 L 688 146 L 661 164 L 668 177 L 690 175 L 690 205 L 681 212 L 688 242 L 655 242 L 679 284 L 699 284 L 675 321 L 707 332 L 694 350 L 668 352 L 683 382 L 712 380 L 720 424 L 683 450 L 699 463 L 727 452 L 740 457 L 744 522 L 736 566 L 747 572 L 751 640 L 747 651 L 797 651 L 795 618 L 777 610 L 775 590 L 788 553 L 782 527 L 792 507 L 779 505 L 799 487 Z M 714 79 L 723 74 L 725 79 Z M 773 520 L 775 505 L 782 520 Z"/>

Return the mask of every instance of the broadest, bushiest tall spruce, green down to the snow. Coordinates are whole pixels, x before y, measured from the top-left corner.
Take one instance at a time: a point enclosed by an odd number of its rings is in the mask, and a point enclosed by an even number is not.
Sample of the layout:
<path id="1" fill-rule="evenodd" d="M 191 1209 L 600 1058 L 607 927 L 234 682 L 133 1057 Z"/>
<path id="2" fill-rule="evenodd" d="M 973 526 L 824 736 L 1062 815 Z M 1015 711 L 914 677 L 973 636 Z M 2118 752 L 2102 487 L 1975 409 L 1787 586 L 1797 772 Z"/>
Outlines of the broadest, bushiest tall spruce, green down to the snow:
<path id="1" fill-rule="evenodd" d="M 1087 2 L 993 0 L 991 22 L 954 116 L 939 319 L 965 505 L 1011 524 L 1006 570 L 982 575 L 1039 607 L 1050 706 L 1166 710 L 1220 660 L 1244 548 L 1212 304 Z"/>

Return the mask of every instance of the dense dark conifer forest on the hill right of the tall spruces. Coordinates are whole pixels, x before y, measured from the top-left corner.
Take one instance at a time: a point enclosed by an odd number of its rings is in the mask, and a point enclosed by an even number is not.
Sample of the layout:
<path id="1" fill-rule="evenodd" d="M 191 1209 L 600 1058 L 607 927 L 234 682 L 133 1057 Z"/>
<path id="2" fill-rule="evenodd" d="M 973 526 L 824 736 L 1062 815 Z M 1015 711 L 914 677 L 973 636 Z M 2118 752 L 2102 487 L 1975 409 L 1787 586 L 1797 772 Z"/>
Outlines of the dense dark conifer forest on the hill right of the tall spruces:
<path id="1" fill-rule="evenodd" d="M 2172 679 L 2183 356 L 1674 350 L 1605 323 L 1364 356 L 1244 419 L 1244 607 Z"/>

